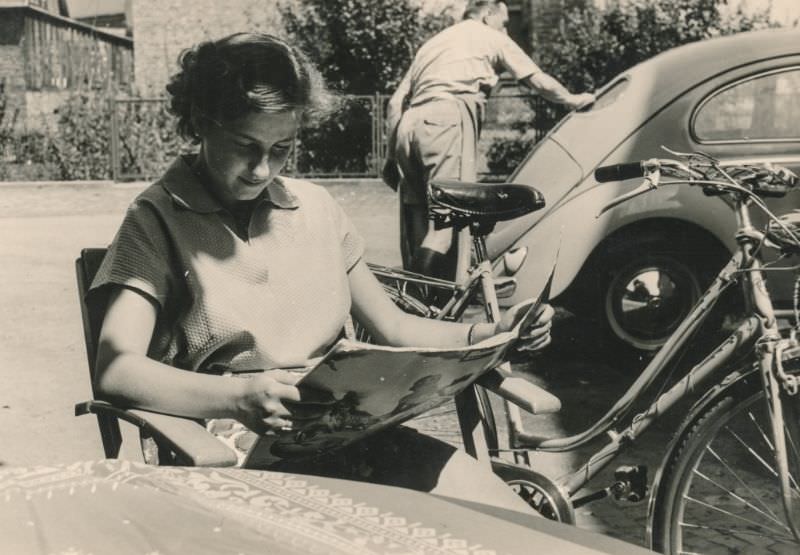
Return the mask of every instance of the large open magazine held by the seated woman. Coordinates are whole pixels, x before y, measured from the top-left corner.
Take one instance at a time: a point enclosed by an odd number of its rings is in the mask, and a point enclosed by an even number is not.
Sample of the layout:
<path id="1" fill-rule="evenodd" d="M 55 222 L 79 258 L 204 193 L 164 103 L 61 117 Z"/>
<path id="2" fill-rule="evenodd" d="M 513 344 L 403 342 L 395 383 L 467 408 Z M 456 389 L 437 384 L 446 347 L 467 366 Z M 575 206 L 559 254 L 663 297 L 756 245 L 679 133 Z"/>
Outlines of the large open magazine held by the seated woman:
<path id="1" fill-rule="evenodd" d="M 538 299 L 520 310 L 514 328 L 460 348 L 386 347 L 337 342 L 298 382 L 313 390 L 323 415 L 294 429 L 261 436 L 244 461 L 264 468 L 276 458 L 312 456 L 394 426 L 438 407 L 505 360 L 521 329 L 547 302 L 553 273 Z"/>

